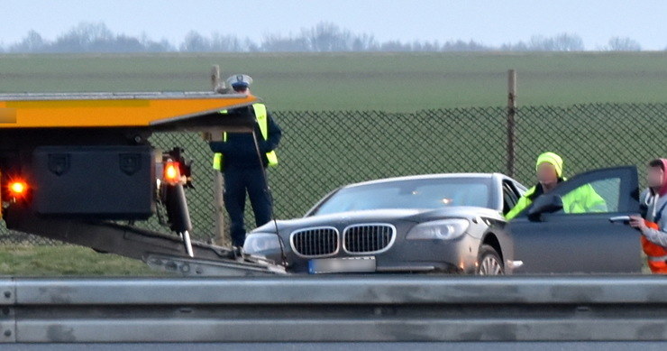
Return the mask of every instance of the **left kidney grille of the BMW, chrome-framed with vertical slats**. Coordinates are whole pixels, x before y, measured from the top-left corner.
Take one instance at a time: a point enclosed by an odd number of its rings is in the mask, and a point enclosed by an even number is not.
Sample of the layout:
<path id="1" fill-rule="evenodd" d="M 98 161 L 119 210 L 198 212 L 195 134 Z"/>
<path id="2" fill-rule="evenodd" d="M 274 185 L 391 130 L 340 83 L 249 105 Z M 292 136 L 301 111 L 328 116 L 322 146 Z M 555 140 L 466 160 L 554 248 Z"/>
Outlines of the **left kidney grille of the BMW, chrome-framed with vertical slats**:
<path id="1" fill-rule="evenodd" d="M 290 238 L 295 253 L 305 257 L 321 257 L 338 253 L 338 229 L 333 226 L 297 230 Z"/>

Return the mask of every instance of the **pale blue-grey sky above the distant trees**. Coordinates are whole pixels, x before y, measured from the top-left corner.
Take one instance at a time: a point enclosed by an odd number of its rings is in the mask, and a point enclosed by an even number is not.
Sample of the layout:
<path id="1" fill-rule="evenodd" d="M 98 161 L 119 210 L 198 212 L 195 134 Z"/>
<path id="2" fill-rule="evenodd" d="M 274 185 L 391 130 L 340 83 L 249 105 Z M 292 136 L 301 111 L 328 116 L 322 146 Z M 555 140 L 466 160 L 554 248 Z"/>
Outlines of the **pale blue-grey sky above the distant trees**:
<path id="1" fill-rule="evenodd" d="M 326 21 L 388 40 L 474 40 L 487 45 L 533 35 L 577 33 L 595 50 L 614 36 L 644 50 L 667 48 L 662 0 L 0 0 L 0 43 L 30 30 L 49 40 L 81 22 L 103 22 L 116 33 L 182 42 L 190 30 L 234 34 L 260 42 Z"/>

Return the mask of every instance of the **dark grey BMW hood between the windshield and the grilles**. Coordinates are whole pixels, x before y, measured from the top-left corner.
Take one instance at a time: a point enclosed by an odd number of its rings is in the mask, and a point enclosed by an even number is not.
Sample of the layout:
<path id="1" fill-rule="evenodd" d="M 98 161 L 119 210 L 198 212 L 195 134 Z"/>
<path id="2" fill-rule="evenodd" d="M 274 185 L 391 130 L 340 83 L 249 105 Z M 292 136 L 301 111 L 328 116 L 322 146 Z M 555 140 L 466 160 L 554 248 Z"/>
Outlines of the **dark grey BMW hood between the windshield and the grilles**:
<path id="1" fill-rule="evenodd" d="M 373 209 L 365 211 L 340 212 L 323 216 L 302 217 L 288 220 L 271 221 L 264 226 L 260 226 L 251 233 L 275 233 L 278 226 L 279 231 L 294 230 L 308 226 L 334 226 L 341 223 L 361 223 L 361 222 L 389 222 L 407 221 L 422 223 L 430 220 L 443 219 L 448 217 L 491 217 L 501 219 L 502 216 L 497 210 L 489 208 L 474 207 L 451 207 L 438 209 Z"/>

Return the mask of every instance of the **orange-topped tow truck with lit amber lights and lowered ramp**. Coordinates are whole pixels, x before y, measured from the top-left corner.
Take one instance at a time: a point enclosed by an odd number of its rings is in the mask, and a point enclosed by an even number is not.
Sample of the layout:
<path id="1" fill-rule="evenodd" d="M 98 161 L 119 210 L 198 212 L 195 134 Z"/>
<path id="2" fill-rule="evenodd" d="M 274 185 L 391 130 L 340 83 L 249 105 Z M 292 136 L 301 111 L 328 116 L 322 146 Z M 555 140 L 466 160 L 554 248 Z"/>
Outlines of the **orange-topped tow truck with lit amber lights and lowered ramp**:
<path id="1" fill-rule="evenodd" d="M 253 133 L 251 117 L 219 111 L 258 101 L 216 92 L 0 94 L 0 218 L 11 230 L 184 275 L 284 273 L 261 257 L 191 240 L 186 151 L 149 140 Z M 136 225 L 163 212 L 170 233 Z"/>

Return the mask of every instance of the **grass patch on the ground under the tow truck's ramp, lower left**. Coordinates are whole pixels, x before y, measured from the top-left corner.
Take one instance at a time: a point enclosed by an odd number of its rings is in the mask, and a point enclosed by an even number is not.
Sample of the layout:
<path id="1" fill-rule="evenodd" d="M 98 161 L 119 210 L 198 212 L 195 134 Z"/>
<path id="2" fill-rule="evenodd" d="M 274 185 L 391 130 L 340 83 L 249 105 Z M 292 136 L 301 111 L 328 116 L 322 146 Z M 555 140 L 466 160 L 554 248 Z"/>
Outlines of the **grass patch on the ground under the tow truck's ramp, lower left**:
<path id="1" fill-rule="evenodd" d="M 164 276 L 147 264 L 73 245 L 0 245 L 0 274 L 13 276 Z"/>

